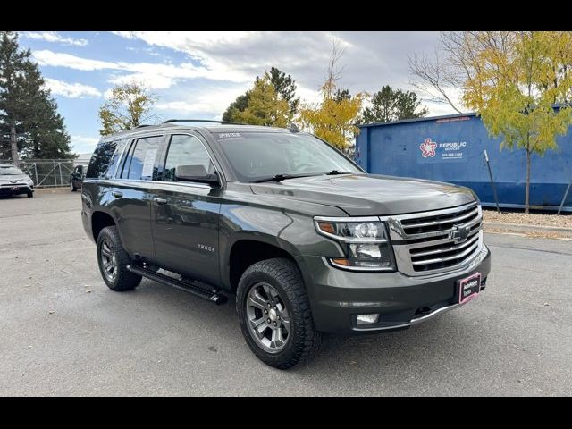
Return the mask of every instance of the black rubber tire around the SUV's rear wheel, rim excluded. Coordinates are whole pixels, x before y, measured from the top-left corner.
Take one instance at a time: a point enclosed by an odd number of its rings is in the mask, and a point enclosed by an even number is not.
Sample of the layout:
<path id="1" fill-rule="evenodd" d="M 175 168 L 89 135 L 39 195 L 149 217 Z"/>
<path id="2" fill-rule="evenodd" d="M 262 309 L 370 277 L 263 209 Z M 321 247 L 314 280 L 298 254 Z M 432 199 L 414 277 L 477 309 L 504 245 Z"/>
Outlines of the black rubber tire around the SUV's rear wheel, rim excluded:
<path id="1" fill-rule="evenodd" d="M 115 257 L 114 275 L 106 271 L 104 259 L 109 259 L 109 257 L 105 256 L 105 252 L 102 251 L 103 248 L 111 250 L 112 257 Z M 114 226 L 105 227 L 97 236 L 97 264 L 105 284 L 111 290 L 131 290 L 139 286 L 141 282 L 140 275 L 131 273 L 127 269 L 127 265 L 132 264 L 132 261 L 123 248 L 119 232 Z"/>

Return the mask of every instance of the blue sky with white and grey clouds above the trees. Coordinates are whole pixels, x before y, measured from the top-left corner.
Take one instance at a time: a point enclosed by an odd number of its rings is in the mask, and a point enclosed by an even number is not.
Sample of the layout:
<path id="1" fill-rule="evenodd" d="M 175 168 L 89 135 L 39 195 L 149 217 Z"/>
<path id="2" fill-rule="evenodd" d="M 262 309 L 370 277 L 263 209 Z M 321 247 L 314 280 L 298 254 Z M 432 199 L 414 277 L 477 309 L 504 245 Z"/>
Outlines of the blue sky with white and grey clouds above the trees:
<path id="1" fill-rule="evenodd" d="M 139 80 L 160 97 L 162 119 L 220 119 L 257 75 L 274 66 L 316 101 L 332 37 L 341 39 L 341 87 L 374 93 L 409 85 L 408 54 L 432 52 L 435 32 L 22 32 L 57 99 L 77 153 L 98 139 L 97 109 L 115 83 Z M 454 113 L 424 103 L 430 114 Z"/>

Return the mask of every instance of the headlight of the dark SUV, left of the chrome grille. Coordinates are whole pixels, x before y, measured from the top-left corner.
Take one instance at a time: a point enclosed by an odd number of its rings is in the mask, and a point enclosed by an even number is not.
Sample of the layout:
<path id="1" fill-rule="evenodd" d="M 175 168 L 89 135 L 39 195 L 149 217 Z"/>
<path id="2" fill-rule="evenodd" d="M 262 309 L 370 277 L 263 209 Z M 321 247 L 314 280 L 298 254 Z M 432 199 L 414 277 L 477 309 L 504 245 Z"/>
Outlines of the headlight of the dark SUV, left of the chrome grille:
<path id="1" fill-rule="evenodd" d="M 346 257 L 332 257 L 332 265 L 354 271 L 395 271 L 395 260 L 385 223 L 369 219 L 316 217 L 316 230 L 337 240 Z"/>

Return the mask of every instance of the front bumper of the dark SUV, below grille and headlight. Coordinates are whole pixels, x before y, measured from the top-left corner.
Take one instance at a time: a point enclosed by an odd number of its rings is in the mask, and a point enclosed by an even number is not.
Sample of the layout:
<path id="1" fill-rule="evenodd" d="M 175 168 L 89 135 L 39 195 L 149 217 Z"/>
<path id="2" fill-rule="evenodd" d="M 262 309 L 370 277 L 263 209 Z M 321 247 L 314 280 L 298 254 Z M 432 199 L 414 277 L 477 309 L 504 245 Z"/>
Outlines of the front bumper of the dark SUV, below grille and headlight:
<path id="1" fill-rule="evenodd" d="M 484 290 L 491 252 L 483 246 L 461 270 L 409 277 L 402 273 L 356 273 L 327 264 L 322 257 L 299 257 L 314 315 L 322 332 L 355 334 L 405 329 L 459 307 L 459 279 L 481 273 Z M 470 302 L 470 301 L 469 301 Z M 380 314 L 376 324 L 357 325 L 357 315 Z"/>

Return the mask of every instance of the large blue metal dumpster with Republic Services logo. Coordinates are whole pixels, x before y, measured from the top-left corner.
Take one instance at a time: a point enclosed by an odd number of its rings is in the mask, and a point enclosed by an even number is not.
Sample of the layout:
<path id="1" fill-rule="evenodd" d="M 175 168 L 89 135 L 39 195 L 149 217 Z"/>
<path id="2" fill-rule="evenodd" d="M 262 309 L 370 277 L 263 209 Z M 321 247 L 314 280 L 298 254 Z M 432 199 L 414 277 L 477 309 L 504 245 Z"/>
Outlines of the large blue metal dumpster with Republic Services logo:
<path id="1" fill-rule="evenodd" d="M 483 206 L 494 206 L 484 150 L 501 207 L 525 204 L 526 153 L 501 150 L 475 114 L 451 114 L 360 126 L 355 158 L 366 172 L 448 181 L 475 190 Z M 572 181 L 572 134 L 557 139 L 558 149 L 532 157 L 530 204 L 558 209 Z M 572 189 L 563 211 L 572 211 Z"/>

